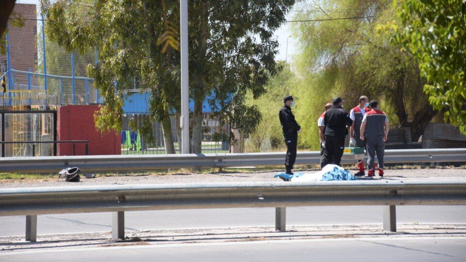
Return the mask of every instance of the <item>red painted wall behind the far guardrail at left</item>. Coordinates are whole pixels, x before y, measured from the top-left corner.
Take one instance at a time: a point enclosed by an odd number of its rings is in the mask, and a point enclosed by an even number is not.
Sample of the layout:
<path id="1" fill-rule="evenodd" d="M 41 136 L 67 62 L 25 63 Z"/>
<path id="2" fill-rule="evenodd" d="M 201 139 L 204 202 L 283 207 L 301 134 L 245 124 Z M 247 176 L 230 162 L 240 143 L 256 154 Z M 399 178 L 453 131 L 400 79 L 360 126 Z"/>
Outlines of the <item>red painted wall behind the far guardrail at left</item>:
<path id="1" fill-rule="evenodd" d="M 120 155 L 121 138 L 115 132 L 103 135 L 94 125 L 94 112 L 98 105 L 67 105 L 58 108 L 57 133 L 58 140 L 89 140 L 89 155 Z M 76 155 L 85 155 L 85 144 L 76 143 Z M 59 156 L 72 156 L 73 145 L 59 143 Z"/>

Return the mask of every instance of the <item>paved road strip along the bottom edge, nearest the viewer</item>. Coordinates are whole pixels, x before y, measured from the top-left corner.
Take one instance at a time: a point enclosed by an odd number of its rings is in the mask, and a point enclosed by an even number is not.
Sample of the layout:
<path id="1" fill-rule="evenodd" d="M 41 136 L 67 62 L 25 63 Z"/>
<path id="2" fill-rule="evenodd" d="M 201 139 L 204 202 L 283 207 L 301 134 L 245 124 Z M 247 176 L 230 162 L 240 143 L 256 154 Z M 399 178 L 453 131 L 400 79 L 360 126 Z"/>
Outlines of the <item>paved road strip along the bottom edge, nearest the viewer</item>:
<path id="1" fill-rule="evenodd" d="M 40 250 L 0 261 L 465 261 L 466 238 L 283 240 Z"/>

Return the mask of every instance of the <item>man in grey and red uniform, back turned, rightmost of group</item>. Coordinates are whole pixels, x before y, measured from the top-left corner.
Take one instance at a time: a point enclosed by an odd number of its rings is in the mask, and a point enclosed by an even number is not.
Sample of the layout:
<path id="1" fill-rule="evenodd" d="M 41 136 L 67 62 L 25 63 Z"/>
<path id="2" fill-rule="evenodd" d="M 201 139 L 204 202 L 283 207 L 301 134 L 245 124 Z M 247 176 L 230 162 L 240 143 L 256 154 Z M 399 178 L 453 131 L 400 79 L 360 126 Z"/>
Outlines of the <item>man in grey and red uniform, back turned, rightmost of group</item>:
<path id="1" fill-rule="evenodd" d="M 379 102 L 377 100 L 371 100 L 369 106 L 371 111 L 364 115 L 360 132 L 361 140 L 366 140 L 367 169 L 369 170 L 367 176 L 375 176 L 374 158 L 377 152 L 379 176 L 383 177 L 383 152 L 389 129 L 388 117 L 383 111 L 379 110 Z"/>

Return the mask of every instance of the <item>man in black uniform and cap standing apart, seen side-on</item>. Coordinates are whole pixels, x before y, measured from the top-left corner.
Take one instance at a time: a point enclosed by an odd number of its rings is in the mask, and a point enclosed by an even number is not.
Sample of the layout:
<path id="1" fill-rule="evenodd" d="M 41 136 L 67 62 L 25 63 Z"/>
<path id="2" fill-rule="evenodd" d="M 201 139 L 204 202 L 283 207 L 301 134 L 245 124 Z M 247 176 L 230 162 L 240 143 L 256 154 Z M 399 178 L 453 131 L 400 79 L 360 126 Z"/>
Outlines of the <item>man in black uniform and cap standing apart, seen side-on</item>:
<path id="1" fill-rule="evenodd" d="M 301 132 L 301 127 L 295 120 L 295 116 L 291 113 L 291 106 L 293 105 L 293 97 L 286 96 L 283 98 L 283 107 L 280 109 L 278 116 L 282 124 L 283 138 L 286 144 L 286 157 L 285 157 L 285 172 L 286 174 L 293 175 L 291 169 L 296 160 L 296 147 L 298 146 L 298 133 Z"/>

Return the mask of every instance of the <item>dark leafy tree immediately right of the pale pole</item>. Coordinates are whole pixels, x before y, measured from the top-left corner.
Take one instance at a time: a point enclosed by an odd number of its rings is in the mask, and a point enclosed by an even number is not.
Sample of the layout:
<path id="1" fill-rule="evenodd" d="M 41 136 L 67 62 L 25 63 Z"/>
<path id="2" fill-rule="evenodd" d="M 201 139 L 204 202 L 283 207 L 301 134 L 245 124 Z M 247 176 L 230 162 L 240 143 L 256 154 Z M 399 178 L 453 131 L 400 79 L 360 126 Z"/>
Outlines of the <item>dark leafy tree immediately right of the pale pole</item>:
<path id="1" fill-rule="evenodd" d="M 193 151 L 200 153 L 202 103 L 211 94 L 214 99 L 210 103 L 221 122 L 230 122 L 246 134 L 257 126 L 258 110 L 245 105 L 245 96 L 249 91 L 258 98 L 265 92 L 268 78 L 279 71 L 274 61 L 278 42 L 273 32 L 285 20 L 294 0 L 189 4 Z"/>

